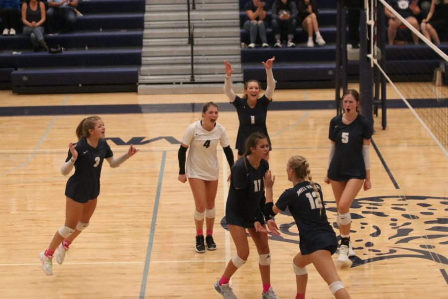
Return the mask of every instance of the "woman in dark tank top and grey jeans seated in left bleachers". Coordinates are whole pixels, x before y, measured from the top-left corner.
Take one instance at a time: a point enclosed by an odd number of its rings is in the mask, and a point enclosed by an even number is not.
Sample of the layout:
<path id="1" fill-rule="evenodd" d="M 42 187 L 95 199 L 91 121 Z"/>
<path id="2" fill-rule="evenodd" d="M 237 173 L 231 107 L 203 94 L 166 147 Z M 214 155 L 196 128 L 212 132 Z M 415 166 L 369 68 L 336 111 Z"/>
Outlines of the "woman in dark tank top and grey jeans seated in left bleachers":
<path id="1" fill-rule="evenodd" d="M 22 5 L 23 34 L 31 37 L 34 51 L 49 51 L 43 38 L 45 22 L 45 4 L 39 0 L 26 0 Z"/>

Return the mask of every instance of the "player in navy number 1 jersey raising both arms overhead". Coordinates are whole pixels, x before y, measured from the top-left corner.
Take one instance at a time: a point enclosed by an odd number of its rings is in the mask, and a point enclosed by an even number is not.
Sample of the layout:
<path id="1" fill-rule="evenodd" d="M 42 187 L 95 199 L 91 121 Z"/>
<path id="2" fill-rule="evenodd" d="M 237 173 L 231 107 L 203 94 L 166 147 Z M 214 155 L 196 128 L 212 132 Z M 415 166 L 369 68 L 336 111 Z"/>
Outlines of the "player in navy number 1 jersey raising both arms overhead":
<path id="1" fill-rule="evenodd" d="M 272 102 L 274 95 L 275 80 L 272 74 L 272 64 L 275 57 L 262 62 L 266 69 L 267 87 L 264 95 L 259 98 L 261 88 L 260 82 L 256 80 L 249 80 L 244 84 L 244 95 L 242 98 L 235 95 L 231 87 L 232 66 L 226 60 L 225 65 L 225 81 L 224 93 L 230 103 L 233 104 L 238 113 L 239 127 L 236 135 L 236 146 L 238 149 L 238 158 L 244 152 L 245 141 L 247 137 L 254 132 L 263 133 L 269 143 L 269 149 L 272 149 L 271 141 L 266 128 L 266 114 L 269 104 Z M 267 156 L 269 160 L 269 155 Z"/>

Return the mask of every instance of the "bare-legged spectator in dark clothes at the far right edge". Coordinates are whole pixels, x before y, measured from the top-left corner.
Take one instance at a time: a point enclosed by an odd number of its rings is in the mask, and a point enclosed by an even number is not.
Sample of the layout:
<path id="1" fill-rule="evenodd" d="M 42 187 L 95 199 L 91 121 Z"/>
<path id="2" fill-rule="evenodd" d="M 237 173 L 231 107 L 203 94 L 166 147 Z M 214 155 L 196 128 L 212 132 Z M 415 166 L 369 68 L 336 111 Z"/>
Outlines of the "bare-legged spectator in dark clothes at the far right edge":
<path id="1" fill-rule="evenodd" d="M 432 0 L 428 16 L 422 20 L 420 26 L 426 38 L 432 38 L 436 44 L 440 44 L 438 32 L 448 30 L 448 1 Z"/>

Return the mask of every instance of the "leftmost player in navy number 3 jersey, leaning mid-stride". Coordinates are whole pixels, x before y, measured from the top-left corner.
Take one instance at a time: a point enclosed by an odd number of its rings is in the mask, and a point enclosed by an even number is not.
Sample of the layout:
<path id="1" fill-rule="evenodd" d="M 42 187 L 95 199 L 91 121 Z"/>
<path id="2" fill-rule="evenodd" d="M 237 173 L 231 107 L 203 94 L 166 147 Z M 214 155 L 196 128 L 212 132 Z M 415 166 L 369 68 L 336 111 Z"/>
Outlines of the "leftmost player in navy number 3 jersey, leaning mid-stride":
<path id="1" fill-rule="evenodd" d="M 78 142 L 69 144 L 61 173 L 69 174 L 73 166 L 75 173 L 68 179 L 65 187 L 65 224 L 56 231 L 48 249 L 39 255 L 42 270 L 47 275 L 53 274 L 52 259 L 56 248 L 56 260 L 58 264 L 62 264 L 70 244 L 89 225 L 100 194 L 104 159 L 115 168 L 138 151 L 131 145 L 127 153 L 114 158 L 106 142 L 105 132 L 103 120 L 98 116 L 91 116 L 83 119 L 76 128 Z"/>

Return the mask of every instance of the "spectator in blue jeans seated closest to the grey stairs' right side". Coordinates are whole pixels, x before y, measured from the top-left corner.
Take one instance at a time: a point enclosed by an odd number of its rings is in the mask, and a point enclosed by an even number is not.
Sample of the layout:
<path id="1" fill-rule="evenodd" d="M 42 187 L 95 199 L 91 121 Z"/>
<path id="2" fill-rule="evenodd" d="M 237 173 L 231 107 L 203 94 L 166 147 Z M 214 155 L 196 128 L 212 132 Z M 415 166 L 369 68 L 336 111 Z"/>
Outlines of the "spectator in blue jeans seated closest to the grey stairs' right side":
<path id="1" fill-rule="evenodd" d="M 247 20 L 244 22 L 244 29 L 250 32 L 250 44 L 248 48 L 255 47 L 255 41 L 257 39 L 257 34 L 261 38 L 261 46 L 263 48 L 269 47 L 266 39 L 266 14 L 267 14 L 267 3 L 261 0 L 250 0 L 244 6 L 247 13 Z"/>

